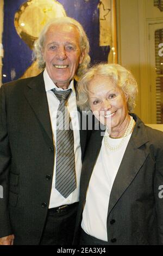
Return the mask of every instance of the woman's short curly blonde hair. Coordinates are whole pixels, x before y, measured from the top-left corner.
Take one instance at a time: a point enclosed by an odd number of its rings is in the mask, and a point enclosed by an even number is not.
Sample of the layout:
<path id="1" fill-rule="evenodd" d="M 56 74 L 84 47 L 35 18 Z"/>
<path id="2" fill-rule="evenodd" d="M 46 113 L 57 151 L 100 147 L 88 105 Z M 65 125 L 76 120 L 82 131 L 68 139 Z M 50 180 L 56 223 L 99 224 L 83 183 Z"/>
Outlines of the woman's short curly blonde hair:
<path id="1" fill-rule="evenodd" d="M 77 86 L 77 104 L 82 110 L 90 110 L 89 104 L 89 84 L 97 75 L 109 77 L 123 92 L 128 96 L 127 107 L 131 112 L 136 105 L 137 82 L 134 76 L 126 68 L 118 64 L 98 64 L 90 68 L 82 78 L 80 78 Z"/>

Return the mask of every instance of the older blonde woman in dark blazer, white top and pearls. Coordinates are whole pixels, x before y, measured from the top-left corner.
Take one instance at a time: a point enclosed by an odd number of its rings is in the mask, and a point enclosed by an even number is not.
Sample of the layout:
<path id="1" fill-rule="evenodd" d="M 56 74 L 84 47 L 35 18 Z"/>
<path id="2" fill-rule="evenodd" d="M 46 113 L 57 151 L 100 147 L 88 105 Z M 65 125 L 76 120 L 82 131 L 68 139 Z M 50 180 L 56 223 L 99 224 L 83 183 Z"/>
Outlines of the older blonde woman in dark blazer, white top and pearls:
<path id="1" fill-rule="evenodd" d="M 163 133 L 131 114 L 136 94 L 118 64 L 92 67 L 79 81 L 80 108 L 105 132 L 93 130 L 85 153 L 74 243 L 163 245 Z"/>

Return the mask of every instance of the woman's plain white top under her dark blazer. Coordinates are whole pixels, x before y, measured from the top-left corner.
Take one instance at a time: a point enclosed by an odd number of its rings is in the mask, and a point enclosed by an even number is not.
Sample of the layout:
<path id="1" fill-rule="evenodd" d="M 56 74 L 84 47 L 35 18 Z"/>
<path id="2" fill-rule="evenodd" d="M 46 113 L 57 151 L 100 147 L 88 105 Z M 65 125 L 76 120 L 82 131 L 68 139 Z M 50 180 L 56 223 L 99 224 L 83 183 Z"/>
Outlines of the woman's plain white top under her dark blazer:
<path id="1" fill-rule="evenodd" d="M 82 229 L 88 235 L 108 241 L 106 221 L 112 185 L 120 167 L 131 134 L 117 151 L 110 151 L 102 140 L 102 147 L 93 168 L 86 203 L 83 211 Z M 117 146 L 122 139 L 109 138 L 109 145 Z"/>

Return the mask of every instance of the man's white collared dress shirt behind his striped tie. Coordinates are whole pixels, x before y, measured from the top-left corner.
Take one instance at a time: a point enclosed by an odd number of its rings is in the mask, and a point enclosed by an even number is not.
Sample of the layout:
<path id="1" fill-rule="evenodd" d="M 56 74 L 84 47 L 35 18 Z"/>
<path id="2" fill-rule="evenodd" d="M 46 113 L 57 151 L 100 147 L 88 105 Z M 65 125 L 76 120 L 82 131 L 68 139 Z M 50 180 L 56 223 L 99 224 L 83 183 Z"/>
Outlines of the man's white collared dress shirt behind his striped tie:
<path id="1" fill-rule="evenodd" d="M 66 204 L 73 204 L 79 201 L 79 181 L 80 174 L 82 169 L 82 151 L 80 147 L 80 133 L 79 133 L 79 120 L 77 115 L 77 104 L 76 104 L 76 91 L 74 90 L 73 80 L 71 81 L 68 89 L 72 89 L 72 93 L 68 98 L 68 111 L 70 112 L 72 127 L 73 127 L 73 135 L 74 135 L 74 156 L 75 156 L 75 165 L 76 165 L 76 178 L 77 178 L 77 188 L 67 197 L 64 198 L 55 189 L 55 172 L 56 172 L 56 138 L 57 138 L 57 110 L 59 106 L 59 100 L 55 96 L 55 94 L 51 91 L 53 88 L 56 88 L 58 91 L 62 91 L 62 88 L 58 88 L 52 79 L 49 77 L 47 70 L 43 72 L 43 79 L 45 82 L 45 90 L 47 94 L 49 114 L 51 117 L 51 126 L 53 132 L 53 142 L 54 142 L 54 171 L 53 171 L 53 181 L 52 181 L 52 190 L 51 190 L 51 198 L 49 202 L 49 208 L 58 207 Z"/>

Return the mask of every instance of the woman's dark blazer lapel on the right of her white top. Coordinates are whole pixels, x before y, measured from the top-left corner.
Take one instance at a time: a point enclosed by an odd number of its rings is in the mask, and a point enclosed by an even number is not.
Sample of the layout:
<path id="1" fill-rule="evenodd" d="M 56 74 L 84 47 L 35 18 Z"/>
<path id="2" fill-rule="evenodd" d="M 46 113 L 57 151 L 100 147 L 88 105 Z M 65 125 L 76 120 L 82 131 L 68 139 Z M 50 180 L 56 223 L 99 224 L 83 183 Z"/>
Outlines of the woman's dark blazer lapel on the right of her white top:
<path id="1" fill-rule="evenodd" d="M 134 180 L 137 172 L 145 162 L 149 152 L 143 145 L 148 142 L 144 124 L 137 118 L 136 126 L 124 153 L 120 168 L 118 169 L 114 184 L 111 189 L 108 216 L 124 191 Z"/>

